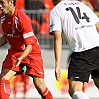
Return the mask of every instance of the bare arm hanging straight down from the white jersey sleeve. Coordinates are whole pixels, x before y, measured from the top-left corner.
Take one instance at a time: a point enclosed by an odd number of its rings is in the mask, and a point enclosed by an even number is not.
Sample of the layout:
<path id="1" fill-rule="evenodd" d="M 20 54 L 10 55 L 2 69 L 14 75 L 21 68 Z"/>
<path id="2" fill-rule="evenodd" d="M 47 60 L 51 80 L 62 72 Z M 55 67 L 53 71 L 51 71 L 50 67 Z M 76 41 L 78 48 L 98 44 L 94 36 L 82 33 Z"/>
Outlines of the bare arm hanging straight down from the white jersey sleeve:
<path id="1" fill-rule="evenodd" d="M 54 35 L 54 54 L 55 54 L 55 77 L 56 80 L 59 81 L 61 74 L 60 57 L 62 50 L 62 37 L 61 33 L 58 31 L 55 31 L 53 35 Z"/>

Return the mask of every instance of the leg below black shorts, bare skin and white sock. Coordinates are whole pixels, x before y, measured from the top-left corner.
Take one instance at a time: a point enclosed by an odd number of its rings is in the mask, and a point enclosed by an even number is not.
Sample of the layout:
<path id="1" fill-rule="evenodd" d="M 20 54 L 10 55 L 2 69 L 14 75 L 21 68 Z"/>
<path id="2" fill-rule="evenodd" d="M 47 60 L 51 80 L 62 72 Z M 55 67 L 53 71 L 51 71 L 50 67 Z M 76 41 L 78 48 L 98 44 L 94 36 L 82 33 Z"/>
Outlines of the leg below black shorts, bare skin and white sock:
<path id="1" fill-rule="evenodd" d="M 69 79 L 69 94 L 73 99 L 90 99 L 83 91 L 83 82 Z"/>

